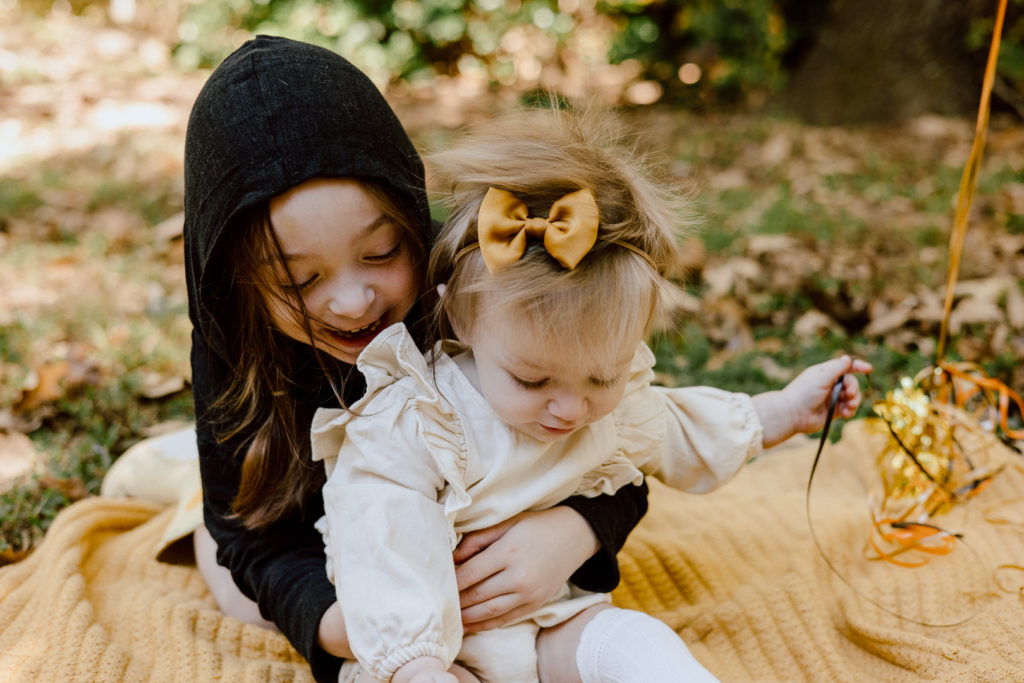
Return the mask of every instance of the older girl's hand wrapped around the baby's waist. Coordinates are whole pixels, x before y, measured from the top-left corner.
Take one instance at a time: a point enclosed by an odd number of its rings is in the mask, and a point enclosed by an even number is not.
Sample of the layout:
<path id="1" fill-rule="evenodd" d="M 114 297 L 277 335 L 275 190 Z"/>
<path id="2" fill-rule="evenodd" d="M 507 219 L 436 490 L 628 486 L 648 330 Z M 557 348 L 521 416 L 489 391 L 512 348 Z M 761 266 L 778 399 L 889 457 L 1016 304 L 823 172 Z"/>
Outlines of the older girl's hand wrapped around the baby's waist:
<path id="1" fill-rule="evenodd" d="M 464 629 L 484 631 L 534 611 L 599 547 L 590 524 L 565 506 L 467 533 L 455 549 Z"/>

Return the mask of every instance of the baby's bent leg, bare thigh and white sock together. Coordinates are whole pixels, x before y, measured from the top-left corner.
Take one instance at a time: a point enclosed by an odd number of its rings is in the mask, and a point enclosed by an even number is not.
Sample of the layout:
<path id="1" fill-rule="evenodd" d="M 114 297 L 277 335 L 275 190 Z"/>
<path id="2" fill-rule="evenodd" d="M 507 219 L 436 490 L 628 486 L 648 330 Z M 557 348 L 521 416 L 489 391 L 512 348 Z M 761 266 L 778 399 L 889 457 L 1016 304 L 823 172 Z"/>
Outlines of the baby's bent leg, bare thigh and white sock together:
<path id="1" fill-rule="evenodd" d="M 610 605 L 595 605 L 542 630 L 537 652 L 542 683 L 717 680 L 664 622 Z"/>

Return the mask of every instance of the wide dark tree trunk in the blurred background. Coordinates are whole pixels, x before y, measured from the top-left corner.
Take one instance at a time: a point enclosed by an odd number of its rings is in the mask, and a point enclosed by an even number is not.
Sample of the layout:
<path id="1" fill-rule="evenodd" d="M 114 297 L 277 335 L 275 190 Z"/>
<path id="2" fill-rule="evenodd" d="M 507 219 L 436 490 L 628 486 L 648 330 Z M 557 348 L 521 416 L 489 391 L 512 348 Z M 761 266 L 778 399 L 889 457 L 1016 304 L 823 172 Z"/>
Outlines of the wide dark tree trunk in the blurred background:
<path id="1" fill-rule="evenodd" d="M 977 112 L 987 49 L 966 45 L 995 0 L 830 0 L 780 99 L 799 118 L 842 125 Z M 794 9 L 793 11 L 799 11 Z"/>

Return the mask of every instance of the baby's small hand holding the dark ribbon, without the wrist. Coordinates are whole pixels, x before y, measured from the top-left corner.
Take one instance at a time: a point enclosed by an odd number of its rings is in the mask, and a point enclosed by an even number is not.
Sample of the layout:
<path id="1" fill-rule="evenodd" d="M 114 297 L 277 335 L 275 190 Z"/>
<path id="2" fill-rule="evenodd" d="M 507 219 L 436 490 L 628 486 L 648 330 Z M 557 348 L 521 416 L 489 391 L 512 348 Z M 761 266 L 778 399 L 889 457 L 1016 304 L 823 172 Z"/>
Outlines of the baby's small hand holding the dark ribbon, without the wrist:
<path id="1" fill-rule="evenodd" d="M 843 379 L 843 388 L 836 403 L 836 415 L 852 418 L 861 399 L 860 383 L 853 374 L 869 372 L 871 364 L 844 355 L 841 358 L 811 366 L 800 373 L 782 389 L 783 401 L 788 405 L 793 416 L 794 432 L 807 434 L 824 427 L 828 403 L 831 402 L 833 387 L 843 375 L 846 377 Z"/>

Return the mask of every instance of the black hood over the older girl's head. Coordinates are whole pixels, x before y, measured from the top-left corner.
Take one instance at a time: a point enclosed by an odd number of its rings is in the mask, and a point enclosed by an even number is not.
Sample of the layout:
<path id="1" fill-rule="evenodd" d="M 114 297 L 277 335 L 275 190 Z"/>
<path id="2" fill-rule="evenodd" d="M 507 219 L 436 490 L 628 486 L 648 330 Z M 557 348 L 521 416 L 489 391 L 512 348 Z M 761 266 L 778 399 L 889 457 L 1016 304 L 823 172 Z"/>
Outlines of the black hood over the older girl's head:
<path id="1" fill-rule="evenodd" d="M 429 243 L 423 164 L 362 72 L 325 48 L 268 36 L 217 67 L 188 119 L 184 241 L 188 314 L 218 355 L 218 253 L 237 217 L 310 178 L 342 176 L 390 185 Z"/>

